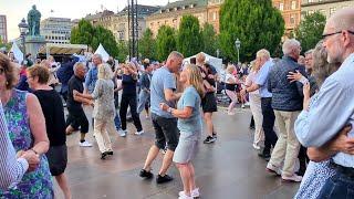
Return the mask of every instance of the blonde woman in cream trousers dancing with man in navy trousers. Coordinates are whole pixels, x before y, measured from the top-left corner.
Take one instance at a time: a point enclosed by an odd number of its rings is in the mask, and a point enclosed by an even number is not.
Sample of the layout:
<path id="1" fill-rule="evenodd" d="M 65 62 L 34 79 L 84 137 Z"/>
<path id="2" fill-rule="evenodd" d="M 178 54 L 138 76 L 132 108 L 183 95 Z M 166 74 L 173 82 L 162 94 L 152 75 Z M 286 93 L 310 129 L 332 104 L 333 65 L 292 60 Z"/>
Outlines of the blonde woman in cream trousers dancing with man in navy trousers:
<path id="1" fill-rule="evenodd" d="M 246 83 L 244 85 L 251 86 L 257 77 L 258 77 L 258 72 L 260 70 L 260 64 L 254 60 L 251 62 L 251 73 L 246 77 Z M 259 91 L 250 92 L 249 93 L 249 101 L 250 101 L 250 108 L 253 115 L 254 119 L 254 138 L 253 138 L 253 148 L 254 149 L 260 149 L 260 143 L 264 140 L 264 132 L 262 128 L 262 123 L 263 123 L 263 115 L 262 115 L 262 108 L 261 108 L 261 96 L 259 95 Z"/>

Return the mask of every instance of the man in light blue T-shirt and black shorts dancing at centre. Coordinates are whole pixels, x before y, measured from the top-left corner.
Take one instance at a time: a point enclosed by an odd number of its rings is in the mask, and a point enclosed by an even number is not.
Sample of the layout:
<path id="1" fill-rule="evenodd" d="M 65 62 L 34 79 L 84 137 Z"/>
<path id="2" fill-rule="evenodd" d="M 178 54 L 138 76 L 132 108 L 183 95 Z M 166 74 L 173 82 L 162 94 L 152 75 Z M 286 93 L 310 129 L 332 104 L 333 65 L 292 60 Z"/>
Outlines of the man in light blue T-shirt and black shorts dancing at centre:
<path id="1" fill-rule="evenodd" d="M 140 170 L 142 178 L 152 178 L 152 164 L 160 149 L 165 149 L 167 143 L 167 151 L 164 156 L 162 168 L 156 178 L 157 184 L 164 184 L 173 180 L 168 176 L 167 169 L 171 165 L 175 149 L 178 145 L 179 130 L 177 128 L 177 118 L 170 112 L 160 109 L 160 104 L 165 103 L 169 107 L 176 106 L 176 101 L 180 97 L 180 93 L 176 91 L 176 78 L 174 73 L 177 73 L 183 63 L 184 56 L 179 52 L 171 52 L 166 61 L 166 65 L 156 70 L 150 83 L 150 108 L 152 121 L 155 128 L 156 142 L 150 147 L 144 168 Z"/>

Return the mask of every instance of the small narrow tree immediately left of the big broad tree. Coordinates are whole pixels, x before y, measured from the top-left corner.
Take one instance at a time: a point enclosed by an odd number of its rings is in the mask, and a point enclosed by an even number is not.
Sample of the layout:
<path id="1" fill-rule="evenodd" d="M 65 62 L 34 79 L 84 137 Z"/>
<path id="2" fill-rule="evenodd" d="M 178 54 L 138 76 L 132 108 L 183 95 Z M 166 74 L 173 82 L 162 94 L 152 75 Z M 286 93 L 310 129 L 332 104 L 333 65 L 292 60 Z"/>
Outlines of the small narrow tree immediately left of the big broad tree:
<path id="1" fill-rule="evenodd" d="M 217 56 L 216 51 L 218 49 L 218 42 L 217 42 L 217 35 L 212 24 L 210 23 L 204 24 L 201 30 L 201 40 L 204 42 L 202 52 Z"/>

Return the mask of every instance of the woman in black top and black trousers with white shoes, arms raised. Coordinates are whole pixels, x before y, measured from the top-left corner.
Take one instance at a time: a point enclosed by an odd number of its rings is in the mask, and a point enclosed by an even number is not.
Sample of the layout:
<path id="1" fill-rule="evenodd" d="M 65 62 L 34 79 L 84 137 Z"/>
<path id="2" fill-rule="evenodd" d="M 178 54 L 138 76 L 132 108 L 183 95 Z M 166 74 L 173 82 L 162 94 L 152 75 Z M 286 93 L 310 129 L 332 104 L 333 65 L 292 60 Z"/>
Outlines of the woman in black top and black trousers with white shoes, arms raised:
<path id="1" fill-rule="evenodd" d="M 122 130 L 119 132 L 121 137 L 126 136 L 126 113 L 128 106 L 131 107 L 131 114 L 136 127 L 135 135 L 144 134 L 139 115 L 137 114 L 137 93 L 136 93 L 136 82 L 137 82 L 137 70 L 133 63 L 122 65 L 122 100 L 119 116 L 122 122 Z"/>

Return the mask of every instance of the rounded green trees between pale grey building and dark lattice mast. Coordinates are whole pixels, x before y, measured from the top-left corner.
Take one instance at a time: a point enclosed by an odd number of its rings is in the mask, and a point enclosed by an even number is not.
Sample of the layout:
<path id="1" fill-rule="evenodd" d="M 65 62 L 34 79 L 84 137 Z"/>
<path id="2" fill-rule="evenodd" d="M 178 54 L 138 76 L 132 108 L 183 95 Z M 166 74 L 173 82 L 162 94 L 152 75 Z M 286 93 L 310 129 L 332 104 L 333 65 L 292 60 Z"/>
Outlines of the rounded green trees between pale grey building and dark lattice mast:
<path id="1" fill-rule="evenodd" d="M 72 29 L 70 42 L 86 44 L 93 49 L 97 49 L 101 43 L 111 56 L 118 55 L 118 48 L 113 33 L 101 25 L 93 27 L 86 20 L 81 20 L 79 27 Z"/>

